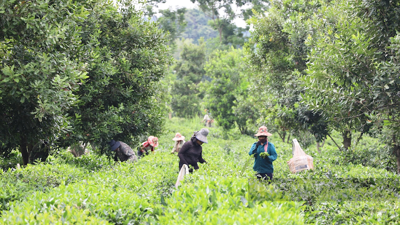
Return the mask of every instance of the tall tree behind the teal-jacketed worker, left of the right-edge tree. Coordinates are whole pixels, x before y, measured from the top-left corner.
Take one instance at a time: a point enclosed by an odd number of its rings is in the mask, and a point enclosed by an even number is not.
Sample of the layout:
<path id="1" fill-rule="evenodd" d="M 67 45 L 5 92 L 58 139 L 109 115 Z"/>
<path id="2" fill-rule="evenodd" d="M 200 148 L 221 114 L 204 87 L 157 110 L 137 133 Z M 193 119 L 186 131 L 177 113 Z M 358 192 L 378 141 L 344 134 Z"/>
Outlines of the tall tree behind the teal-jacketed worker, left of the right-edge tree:
<path id="1" fill-rule="evenodd" d="M 308 21 L 322 2 L 274 1 L 268 14 L 253 10 L 251 39 L 245 45 L 252 95 L 258 96 L 263 118 L 285 141 L 290 134 L 309 131 L 317 142 L 327 135 L 326 121 L 300 102 L 299 78 L 305 74 L 310 47 L 305 41 L 314 30 Z M 318 145 L 317 145 L 318 146 Z"/>

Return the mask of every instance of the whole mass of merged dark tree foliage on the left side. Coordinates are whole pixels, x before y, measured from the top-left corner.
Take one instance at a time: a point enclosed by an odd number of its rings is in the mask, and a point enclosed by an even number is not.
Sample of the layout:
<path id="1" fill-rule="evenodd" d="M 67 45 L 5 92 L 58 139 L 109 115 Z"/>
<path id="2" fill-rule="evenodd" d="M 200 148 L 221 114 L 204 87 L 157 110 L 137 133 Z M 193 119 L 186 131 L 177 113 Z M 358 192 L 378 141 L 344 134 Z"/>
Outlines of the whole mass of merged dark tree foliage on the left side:
<path id="1" fill-rule="evenodd" d="M 2 1 L 0 154 L 36 143 L 104 149 L 162 124 L 168 39 L 130 1 Z M 58 141 L 58 143 L 56 143 Z"/>

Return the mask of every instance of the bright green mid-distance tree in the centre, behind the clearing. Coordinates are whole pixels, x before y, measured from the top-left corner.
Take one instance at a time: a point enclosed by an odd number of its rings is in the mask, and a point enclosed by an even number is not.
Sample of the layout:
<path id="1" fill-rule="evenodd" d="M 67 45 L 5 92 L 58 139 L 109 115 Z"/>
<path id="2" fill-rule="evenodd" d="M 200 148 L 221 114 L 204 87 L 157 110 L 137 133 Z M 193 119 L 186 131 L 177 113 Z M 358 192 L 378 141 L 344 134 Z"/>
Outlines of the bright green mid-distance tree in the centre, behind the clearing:
<path id="1" fill-rule="evenodd" d="M 204 104 L 210 110 L 218 125 L 232 129 L 238 125 L 242 134 L 247 133 L 248 120 L 254 117 L 247 87 L 246 65 L 241 49 L 214 51 L 204 69 L 212 80 L 206 82 Z"/>

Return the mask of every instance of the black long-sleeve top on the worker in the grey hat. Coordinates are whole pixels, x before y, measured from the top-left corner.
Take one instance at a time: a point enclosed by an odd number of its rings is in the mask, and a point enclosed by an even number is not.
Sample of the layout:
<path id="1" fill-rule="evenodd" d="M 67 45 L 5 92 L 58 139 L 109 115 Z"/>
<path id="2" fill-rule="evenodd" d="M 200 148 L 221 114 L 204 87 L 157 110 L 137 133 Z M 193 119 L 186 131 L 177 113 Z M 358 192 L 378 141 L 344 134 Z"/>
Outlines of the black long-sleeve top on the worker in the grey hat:
<path id="1" fill-rule="evenodd" d="M 179 169 L 182 168 L 184 164 L 192 165 L 194 169 L 199 169 L 197 162 L 206 163 L 202 157 L 202 147 L 196 143 L 196 139 L 192 139 L 186 142 L 178 153 Z"/>

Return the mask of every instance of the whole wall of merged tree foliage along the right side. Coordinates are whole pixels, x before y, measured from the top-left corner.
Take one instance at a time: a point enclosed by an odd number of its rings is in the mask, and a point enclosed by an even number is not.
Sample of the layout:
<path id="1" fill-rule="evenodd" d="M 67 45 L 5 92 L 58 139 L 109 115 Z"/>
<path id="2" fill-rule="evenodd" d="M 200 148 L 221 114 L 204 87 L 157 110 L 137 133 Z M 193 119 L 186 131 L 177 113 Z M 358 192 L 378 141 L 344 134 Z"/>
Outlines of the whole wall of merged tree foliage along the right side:
<path id="1" fill-rule="evenodd" d="M 282 139 L 307 131 L 317 147 L 333 129 L 339 149 L 380 135 L 400 174 L 398 13 L 397 1 L 300 0 L 274 1 L 250 18 L 253 90 L 267 99 L 260 121 Z"/>

